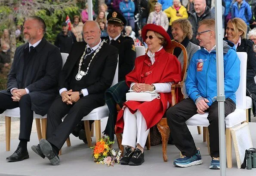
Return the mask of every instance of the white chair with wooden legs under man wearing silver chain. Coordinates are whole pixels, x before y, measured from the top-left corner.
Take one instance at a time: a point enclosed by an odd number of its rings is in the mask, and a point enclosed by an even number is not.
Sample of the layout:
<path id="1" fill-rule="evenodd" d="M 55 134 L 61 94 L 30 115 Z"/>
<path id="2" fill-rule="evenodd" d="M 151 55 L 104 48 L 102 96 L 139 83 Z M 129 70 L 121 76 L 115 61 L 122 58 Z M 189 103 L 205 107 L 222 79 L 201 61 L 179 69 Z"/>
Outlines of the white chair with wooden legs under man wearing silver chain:
<path id="1" fill-rule="evenodd" d="M 111 87 L 117 83 L 118 83 L 118 58 L 117 58 L 117 68 L 115 71 L 115 75 L 114 75 L 114 79 Z M 91 133 L 90 133 L 90 127 L 89 127 L 89 120 L 94 120 L 96 142 L 97 142 L 101 138 L 101 120 L 104 118 L 107 118 L 108 114 L 109 114 L 108 106 L 107 104 L 105 104 L 104 106 L 100 106 L 98 108 L 93 109 L 88 115 L 82 118 L 82 121 L 84 121 L 86 139 L 89 147 L 92 146 L 92 141 L 90 140 Z"/>

